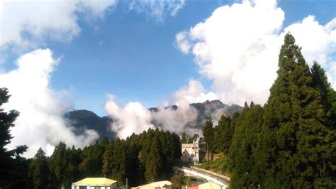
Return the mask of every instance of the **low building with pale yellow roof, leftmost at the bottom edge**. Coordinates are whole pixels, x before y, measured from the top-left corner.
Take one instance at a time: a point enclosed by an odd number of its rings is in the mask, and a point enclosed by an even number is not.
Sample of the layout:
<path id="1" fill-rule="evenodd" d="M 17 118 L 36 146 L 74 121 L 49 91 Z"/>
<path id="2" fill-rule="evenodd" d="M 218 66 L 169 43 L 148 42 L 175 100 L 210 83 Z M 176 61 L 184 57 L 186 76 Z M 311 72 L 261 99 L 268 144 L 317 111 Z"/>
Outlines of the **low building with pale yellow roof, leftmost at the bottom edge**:
<path id="1" fill-rule="evenodd" d="M 116 186 L 117 181 L 108 178 L 84 178 L 72 183 L 72 189 L 114 189 Z"/>

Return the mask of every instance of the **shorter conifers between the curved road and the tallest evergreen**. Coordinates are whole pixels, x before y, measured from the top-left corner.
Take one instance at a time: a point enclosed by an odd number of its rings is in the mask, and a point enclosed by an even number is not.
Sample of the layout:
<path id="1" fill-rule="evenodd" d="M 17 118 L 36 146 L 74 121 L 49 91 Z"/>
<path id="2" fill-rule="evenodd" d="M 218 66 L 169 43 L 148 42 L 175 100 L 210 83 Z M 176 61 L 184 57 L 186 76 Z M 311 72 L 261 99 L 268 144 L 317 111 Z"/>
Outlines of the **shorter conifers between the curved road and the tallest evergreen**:
<path id="1" fill-rule="evenodd" d="M 262 129 L 262 116 L 262 107 L 251 102 L 250 107 L 245 106 L 236 120 L 235 134 L 228 154 L 228 170 L 233 188 L 257 188 L 260 173 L 255 166 L 254 156 L 257 136 Z"/>

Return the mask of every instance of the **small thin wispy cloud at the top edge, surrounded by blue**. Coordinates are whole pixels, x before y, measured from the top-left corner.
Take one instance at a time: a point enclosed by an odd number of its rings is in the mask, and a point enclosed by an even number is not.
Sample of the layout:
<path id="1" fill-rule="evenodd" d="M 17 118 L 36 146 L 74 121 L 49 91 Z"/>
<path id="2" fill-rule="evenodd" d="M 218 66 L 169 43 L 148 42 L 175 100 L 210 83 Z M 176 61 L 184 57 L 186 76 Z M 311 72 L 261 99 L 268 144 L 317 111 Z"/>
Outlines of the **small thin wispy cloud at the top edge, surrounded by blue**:
<path id="1" fill-rule="evenodd" d="M 167 13 L 170 16 L 176 16 L 178 11 L 183 8 L 185 0 L 134 0 L 130 2 L 130 11 L 145 12 L 147 16 L 155 18 L 156 21 L 162 22 Z"/>

